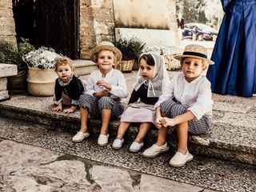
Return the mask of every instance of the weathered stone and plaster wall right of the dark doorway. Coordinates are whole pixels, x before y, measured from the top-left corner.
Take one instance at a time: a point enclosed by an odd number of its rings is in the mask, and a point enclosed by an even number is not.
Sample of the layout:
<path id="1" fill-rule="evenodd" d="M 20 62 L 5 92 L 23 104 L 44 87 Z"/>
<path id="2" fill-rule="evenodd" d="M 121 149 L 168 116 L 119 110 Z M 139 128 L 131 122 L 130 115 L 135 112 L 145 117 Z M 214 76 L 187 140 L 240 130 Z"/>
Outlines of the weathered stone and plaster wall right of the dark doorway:
<path id="1" fill-rule="evenodd" d="M 102 40 L 114 39 L 114 27 L 174 30 L 175 0 L 80 0 L 80 58 Z"/>

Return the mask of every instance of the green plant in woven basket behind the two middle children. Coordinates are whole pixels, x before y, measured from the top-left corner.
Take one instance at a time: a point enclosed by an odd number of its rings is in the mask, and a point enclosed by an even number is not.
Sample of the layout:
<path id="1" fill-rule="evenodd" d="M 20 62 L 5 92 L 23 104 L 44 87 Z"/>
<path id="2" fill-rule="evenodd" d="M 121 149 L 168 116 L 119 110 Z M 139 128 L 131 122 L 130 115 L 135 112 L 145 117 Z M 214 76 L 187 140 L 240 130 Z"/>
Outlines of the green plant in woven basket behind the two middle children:
<path id="1" fill-rule="evenodd" d="M 115 68 L 122 72 L 130 72 L 133 70 L 134 59 L 138 59 L 146 43 L 140 41 L 138 38 L 119 38 L 113 42 L 122 52 L 122 61 L 118 63 Z M 138 67 L 134 67 L 134 70 L 138 70 Z"/>

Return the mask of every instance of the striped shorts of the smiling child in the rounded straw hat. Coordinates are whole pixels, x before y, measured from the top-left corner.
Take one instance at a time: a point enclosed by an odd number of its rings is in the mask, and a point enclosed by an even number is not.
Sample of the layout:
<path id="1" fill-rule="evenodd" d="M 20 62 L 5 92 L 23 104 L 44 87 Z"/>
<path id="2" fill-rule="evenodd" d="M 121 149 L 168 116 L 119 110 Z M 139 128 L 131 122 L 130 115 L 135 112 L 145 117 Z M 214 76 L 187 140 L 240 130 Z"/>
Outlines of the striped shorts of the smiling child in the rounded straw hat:
<path id="1" fill-rule="evenodd" d="M 92 118 L 99 118 L 102 109 L 112 110 L 111 119 L 118 118 L 124 110 L 121 102 L 110 97 L 95 98 L 90 94 L 82 94 L 79 102 L 79 106 L 87 109 Z"/>

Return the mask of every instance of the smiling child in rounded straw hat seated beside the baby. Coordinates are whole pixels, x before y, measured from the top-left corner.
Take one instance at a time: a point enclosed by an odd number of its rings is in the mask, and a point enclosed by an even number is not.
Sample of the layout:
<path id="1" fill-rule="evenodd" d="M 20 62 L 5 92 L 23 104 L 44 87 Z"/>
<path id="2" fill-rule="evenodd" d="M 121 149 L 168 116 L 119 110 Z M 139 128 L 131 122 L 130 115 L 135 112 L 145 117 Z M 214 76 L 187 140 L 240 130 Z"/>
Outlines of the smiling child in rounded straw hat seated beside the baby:
<path id="1" fill-rule="evenodd" d="M 110 118 L 118 118 L 123 112 L 121 98 L 128 96 L 126 79 L 122 72 L 113 67 L 122 59 L 122 53 L 111 42 L 100 42 L 90 50 L 90 58 L 98 64 L 98 70 L 90 74 L 86 83 L 86 94 L 80 99 L 81 129 L 74 135 L 73 142 L 82 142 L 89 137 L 87 120 L 102 117 L 98 145 L 108 143 Z"/>

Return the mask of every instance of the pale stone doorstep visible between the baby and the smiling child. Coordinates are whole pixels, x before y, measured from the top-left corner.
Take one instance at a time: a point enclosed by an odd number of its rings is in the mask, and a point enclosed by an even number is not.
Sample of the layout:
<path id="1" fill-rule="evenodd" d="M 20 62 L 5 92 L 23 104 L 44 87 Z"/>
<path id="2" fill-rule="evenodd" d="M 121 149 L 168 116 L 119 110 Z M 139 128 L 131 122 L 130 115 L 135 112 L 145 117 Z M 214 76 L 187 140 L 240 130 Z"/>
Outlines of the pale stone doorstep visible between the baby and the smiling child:
<path id="1" fill-rule="evenodd" d="M 98 69 L 97 65 L 91 60 L 78 59 L 78 60 L 73 60 L 73 63 L 74 63 L 74 74 L 77 77 L 90 74 L 94 70 Z"/>

